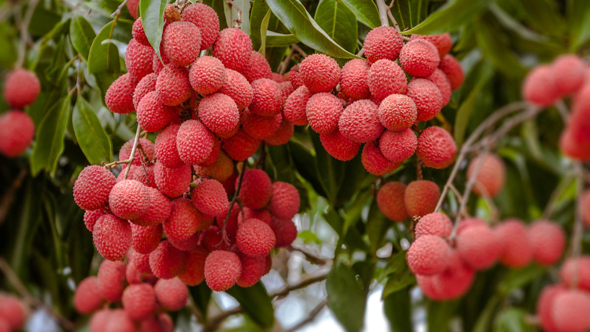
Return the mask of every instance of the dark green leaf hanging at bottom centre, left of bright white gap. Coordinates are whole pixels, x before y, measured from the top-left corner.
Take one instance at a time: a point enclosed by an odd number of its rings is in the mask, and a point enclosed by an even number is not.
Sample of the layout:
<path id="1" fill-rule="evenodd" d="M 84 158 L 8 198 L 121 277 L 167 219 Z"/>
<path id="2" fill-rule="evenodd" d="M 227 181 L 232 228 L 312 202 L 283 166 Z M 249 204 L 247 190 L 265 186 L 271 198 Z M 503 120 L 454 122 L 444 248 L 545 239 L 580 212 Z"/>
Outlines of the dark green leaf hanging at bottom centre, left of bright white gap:
<path id="1" fill-rule="evenodd" d="M 355 272 L 343 263 L 332 265 L 326 280 L 328 307 L 346 331 L 360 331 L 365 320 L 365 292 Z"/>

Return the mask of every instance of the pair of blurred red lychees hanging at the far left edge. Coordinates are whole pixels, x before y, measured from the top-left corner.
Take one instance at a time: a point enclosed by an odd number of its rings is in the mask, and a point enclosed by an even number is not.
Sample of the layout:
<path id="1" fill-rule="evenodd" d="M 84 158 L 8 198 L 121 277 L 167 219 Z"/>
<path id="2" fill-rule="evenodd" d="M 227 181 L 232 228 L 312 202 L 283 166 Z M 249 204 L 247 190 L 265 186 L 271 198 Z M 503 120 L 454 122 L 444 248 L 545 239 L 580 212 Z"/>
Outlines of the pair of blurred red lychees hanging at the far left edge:
<path id="1" fill-rule="evenodd" d="M 22 109 L 31 105 L 40 92 L 41 83 L 32 71 L 19 68 L 6 76 L 4 98 L 13 109 L 0 115 L 0 154 L 17 157 L 31 145 L 35 125 Z"/>

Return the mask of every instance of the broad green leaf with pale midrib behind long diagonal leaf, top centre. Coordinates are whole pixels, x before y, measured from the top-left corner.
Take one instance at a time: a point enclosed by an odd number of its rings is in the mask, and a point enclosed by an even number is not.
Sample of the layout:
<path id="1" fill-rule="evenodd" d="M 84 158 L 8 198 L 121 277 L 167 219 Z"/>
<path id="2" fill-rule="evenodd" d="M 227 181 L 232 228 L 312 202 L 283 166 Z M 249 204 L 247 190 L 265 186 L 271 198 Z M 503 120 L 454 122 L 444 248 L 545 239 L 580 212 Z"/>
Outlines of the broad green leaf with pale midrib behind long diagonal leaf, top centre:
<path id="1" fill-rule="evenodd" d="M 355 14 L 340 0 L 323 0 L 313 19 L 336 43 L 349 52 L 356 50 L 358 27 Z"/>

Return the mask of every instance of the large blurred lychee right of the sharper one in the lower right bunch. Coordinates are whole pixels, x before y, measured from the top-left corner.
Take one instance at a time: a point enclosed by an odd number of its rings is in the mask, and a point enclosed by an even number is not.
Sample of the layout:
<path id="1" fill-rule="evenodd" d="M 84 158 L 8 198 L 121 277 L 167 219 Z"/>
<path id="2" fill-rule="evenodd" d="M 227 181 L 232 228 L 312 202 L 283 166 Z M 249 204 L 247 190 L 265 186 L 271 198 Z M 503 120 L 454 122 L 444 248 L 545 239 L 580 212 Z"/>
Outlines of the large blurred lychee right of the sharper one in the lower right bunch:
<path id="1" fill-rule="evenodd" d="M 471 268 L 483 270 L 496 263 L 501 244 L 490 227 L 469 227 L 457 236 L 457 252 Z"/>

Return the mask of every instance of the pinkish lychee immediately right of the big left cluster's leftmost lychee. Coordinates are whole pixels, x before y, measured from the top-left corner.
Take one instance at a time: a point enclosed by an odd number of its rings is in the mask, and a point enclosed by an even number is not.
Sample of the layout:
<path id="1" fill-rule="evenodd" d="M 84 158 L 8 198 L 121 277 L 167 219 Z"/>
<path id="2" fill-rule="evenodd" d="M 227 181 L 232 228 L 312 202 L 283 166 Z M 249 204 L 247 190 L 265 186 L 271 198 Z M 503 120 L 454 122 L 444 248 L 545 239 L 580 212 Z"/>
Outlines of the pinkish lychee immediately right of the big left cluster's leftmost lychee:
<path id="1" fill-rule="evenodd" d="M 109 194 L 109 208 L 121 219 L 136 219 L 149 206 L 148 187 L 136 180 L 123 180 Z"/>

